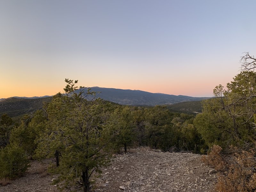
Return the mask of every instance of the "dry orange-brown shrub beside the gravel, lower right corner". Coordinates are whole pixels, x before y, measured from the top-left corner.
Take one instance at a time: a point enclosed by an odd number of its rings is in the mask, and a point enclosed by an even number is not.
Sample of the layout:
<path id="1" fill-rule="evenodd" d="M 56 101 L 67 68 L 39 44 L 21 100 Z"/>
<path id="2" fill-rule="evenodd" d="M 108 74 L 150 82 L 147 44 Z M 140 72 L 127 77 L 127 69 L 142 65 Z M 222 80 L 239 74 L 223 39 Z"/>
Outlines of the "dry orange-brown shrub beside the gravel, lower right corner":
<path id="1" fill-rule="evenodd" d="M 256 191 L 256 158 L 255 148 L 244 151 L 230 146 L 229 151 L 221 153 L 220 146 L 213 146 L 212 151 L 203 156 L 205 164 L 210 165 L 219 174 L 216 191 L 250 192 Z"/>

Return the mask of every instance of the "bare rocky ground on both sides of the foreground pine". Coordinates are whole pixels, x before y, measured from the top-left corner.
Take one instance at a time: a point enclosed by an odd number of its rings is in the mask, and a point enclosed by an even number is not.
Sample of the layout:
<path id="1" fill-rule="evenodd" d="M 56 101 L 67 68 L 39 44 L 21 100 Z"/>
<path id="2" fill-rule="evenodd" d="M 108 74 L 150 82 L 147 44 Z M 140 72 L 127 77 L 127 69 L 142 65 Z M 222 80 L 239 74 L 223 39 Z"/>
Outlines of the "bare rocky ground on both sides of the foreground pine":
<path id="1" fill-rule="evenodd" d="M 44 172 L 48 162 L 33 162 L 24 177 L 0 187 L 0 192 L 58 191 L 52 175 Z M 95 177 L 94 192 L 214 191 L 215 171 L 192 153 L 162 153 L 148 148 L 131 149 L 113 157 L 112 164 Z"/>

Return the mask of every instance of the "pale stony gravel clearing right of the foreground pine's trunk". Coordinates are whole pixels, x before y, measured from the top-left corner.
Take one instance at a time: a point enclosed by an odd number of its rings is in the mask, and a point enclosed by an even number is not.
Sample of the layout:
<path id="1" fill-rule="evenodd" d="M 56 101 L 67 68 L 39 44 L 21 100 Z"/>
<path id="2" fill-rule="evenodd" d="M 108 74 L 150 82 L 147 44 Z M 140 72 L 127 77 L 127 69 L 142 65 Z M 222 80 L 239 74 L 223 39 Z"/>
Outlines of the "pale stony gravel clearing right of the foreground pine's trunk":
<path id="1" fill-rule="evenodd" d="M 209 173 L 210 171 L 210 173 Z M 95 191 L 214 191 L 217 177 L 201 156 L 137 148 L 117 155 L 96 181 Z M 123 188 L 123 189 L 121 189 Z"/>

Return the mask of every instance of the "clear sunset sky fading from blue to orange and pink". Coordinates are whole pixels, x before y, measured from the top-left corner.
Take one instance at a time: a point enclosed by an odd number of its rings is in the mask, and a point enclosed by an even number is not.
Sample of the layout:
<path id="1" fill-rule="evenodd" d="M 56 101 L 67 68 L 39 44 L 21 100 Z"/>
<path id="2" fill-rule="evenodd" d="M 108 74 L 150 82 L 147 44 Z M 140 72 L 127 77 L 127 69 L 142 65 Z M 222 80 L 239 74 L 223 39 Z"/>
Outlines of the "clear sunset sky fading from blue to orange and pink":
<path id="1" fill-rule="evenodd" d="M 0 0 L 0 98 L 80 86 L 211 97 L 256 55 L 256 1 Z"/>

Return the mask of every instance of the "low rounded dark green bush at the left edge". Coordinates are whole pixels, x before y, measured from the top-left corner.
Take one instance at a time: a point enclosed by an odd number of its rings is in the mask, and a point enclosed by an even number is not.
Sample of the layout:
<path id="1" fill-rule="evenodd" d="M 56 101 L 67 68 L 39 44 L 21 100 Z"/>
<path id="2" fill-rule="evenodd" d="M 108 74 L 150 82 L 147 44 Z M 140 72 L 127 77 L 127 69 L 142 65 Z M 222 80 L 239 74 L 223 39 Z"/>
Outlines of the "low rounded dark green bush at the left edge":
<path id="1" fill-rule="evenodd" d="M 8 145 L 0 150 L 0 178 L 15 179 L 22 176 L 28 167 L 28 158 L 22 148 Z"/>

